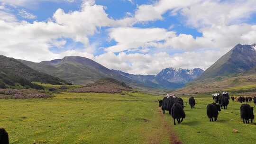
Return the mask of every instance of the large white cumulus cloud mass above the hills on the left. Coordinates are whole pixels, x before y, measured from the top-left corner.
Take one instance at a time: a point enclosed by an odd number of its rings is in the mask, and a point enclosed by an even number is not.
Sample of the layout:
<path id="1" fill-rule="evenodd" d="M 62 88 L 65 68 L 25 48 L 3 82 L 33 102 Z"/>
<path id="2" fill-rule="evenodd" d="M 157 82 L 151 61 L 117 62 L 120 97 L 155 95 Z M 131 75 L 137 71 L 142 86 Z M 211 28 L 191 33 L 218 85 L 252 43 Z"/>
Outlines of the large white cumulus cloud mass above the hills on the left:
<path id="1" fill-rule="evenodd" d="M 34 62 L 75 54 L 73 51 L 54 54 L 49 50 L 53 46 L 61 48 L 65 41 L 59 39 L 65 38 L 81 42 L 84 50 L 78 54 L 88 55 L 86 53 L 93 49 L 88 36 L 97 33 L 100 27 L 122 24 L 121 20 L 109 18 L 104 7 L 94 4 L 93 0 L 84 1 L 79 11 L 65 13 L 63 9 L 57 9 L 53 18 L 47 22 L 18 21 L 14 15 L 3 11 L 0 11 L 0 15 L 1 53 Z"/>

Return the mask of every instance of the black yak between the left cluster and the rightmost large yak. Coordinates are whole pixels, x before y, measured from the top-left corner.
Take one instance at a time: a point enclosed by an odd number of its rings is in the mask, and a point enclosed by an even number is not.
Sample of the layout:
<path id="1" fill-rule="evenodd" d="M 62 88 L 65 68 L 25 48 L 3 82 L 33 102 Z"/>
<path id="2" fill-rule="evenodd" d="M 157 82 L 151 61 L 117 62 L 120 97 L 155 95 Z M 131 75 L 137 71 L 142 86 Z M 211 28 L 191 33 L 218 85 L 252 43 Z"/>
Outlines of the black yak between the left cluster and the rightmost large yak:
<path id="1" fill-rule="evenodd" d="M 219 111 L 221 111 L 219 104 L 217 105 L 215 102 L 213 102 L 213 103 L 207 105 L 206 113 L 207 113 L 207 116 L 209 117 L 210 121 L 213 121 L 213 117 L 214 117 L 214 121 L 217 120 Z"/>

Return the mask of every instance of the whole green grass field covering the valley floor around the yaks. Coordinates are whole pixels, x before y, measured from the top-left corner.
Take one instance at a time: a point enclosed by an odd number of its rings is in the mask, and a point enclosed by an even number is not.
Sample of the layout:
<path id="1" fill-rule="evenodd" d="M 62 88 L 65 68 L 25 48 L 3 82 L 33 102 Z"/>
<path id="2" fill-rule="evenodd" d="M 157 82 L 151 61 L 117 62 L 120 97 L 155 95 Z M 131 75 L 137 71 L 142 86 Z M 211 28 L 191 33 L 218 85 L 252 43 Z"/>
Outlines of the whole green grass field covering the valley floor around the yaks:
<path id="1" fill-rule="evenodd" d="M 243 124 L 240 104 L 230 101 L 217 122 L 209 122 L 212 98 L 197 95 L 196 108 L 173 126 L 157 96 L 143 93 L 55 94 L 51 99 L 0 99 L 0 127 L 10 144 L 254 144 L 256 123 Z M 183 97 L 184 101 L 188 97 Z M 253 105 L 253 104 L 251 104 Z M 238 129 L 238 133 L 232 133 Z M 177 138 L 178 137 L 178 138 Z"/>

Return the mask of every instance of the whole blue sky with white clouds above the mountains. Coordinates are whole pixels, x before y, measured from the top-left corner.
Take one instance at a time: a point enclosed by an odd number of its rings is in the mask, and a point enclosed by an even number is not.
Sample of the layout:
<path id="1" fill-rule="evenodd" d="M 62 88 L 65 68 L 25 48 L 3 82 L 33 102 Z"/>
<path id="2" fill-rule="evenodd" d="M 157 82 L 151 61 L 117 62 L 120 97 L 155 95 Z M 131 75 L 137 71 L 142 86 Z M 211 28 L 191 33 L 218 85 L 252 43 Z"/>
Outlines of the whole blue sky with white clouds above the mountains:
<path id="1" fill-rule="evenodd" d="M 0 54 L 84 56 L 135 74 L 207 69 L 256 43 L 255 25 L 254 0 L 0 0 Z"/>

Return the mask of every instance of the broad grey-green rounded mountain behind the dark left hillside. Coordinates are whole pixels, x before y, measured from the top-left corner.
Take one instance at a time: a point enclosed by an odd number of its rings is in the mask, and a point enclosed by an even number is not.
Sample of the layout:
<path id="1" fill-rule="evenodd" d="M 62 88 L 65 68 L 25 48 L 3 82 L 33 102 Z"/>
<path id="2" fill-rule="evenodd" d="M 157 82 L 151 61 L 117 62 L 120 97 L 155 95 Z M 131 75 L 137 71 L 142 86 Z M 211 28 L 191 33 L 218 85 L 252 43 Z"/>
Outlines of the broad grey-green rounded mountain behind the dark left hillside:
<path id="1" fill-rule="evenodd" d="M 47 73 L 74 84 L 87 85 L 101 78 L 113 78 L 128 84 L 133 83 L 132 85 L 137 85 L 135 81 L 84 57 L 67 56 L 63 59 L 43 61 L 40 63 L 24 60 L 19 61 L 39 72 Z"/>

